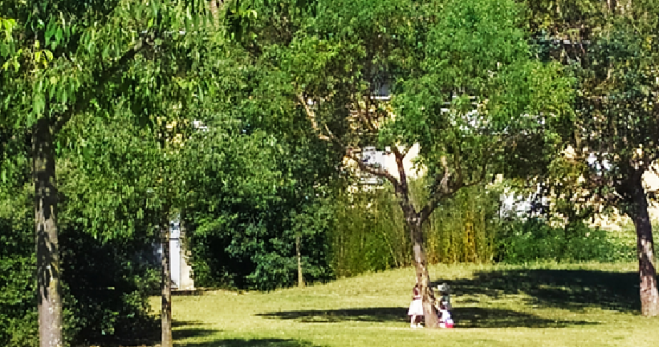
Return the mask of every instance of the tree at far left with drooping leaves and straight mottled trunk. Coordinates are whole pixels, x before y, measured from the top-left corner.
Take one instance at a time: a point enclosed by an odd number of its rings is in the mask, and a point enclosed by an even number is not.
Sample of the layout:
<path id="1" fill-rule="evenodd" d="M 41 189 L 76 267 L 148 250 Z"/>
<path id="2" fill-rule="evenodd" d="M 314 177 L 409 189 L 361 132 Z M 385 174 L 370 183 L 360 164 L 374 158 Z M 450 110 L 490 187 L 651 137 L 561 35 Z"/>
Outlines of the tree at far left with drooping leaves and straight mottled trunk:
<path id="1" fill-rule="evenodd" d="M 180 44 L 189 36 L 181 33 L 200 22 L 194 14 L 203 8 L 187 1 L 35 0 L 3 1 L 1 10 L 14 24 L 12 40 L 2 46 L 0 122 L 31 129 L 40 344 L 61 346 L 55 180 L 60 130 L 89 115 L 90 106 L 111 103 L 109 86 L 119 94 L 148 94 L 139 85 L 149 81 L 126 81 L 124 72 L 143 53 L 146 59 L 166 56 L 165 48 Z"/>

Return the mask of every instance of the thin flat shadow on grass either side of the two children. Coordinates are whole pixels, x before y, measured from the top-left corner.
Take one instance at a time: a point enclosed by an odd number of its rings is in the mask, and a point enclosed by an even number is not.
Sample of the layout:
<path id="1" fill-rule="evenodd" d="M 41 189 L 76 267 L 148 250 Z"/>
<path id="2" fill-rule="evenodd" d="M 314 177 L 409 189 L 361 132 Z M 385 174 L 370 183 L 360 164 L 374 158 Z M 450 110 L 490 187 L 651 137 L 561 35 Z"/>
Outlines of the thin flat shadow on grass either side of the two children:
<path id="1" fill-rule="evenodd" d="M 258 314 L 271 319 L 293 319 L 301 323 L 339 323 L 344 321 L 407 323 L 405 307 L 373 307 L 339 310 L 282 311 Z M 460 328 L 560 328 L 591 324 L 588 321 L 545 319 L 533 314 L 499 308 L 456 307 L 453 311 Z"/>

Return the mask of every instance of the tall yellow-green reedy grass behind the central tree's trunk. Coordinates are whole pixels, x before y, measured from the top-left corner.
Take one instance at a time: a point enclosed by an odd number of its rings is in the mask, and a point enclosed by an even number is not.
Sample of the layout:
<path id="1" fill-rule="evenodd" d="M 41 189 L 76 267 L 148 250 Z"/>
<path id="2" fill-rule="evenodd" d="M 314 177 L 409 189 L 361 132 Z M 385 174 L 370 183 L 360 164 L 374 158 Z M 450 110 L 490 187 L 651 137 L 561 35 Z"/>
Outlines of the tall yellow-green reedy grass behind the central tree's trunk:
<path id="1" fill-rule="evenodd" d="M 423 180 L 411 182 L 411 197 L 425 203 Z M 423 228 L 431 264 L 492 262 L 499 228 L 499 193 L 482 187 L 462 189 L 431 215 Z M 331 235 L 336 275 L 354 276 L 411 264 L 409 232 L 390 186 L 341 192 Z"/>

